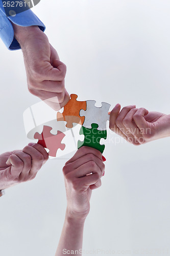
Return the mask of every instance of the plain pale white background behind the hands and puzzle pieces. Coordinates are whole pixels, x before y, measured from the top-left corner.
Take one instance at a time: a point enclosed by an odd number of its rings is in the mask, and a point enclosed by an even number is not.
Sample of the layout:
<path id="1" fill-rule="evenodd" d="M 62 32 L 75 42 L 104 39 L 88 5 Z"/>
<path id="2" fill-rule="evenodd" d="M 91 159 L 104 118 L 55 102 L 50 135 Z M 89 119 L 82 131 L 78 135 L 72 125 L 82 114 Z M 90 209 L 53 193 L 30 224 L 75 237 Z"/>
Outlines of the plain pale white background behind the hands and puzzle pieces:
<path id="1" fill-rule="evenodd" d="M 169 1 L 41 0 L 33 11 L 67 66 L 69 93 L 112 107 L 136 104 L 169 113 Z M 3 153 L 30 142 L 22 113 L 39 99 L 28 92 L 21 51 L 8 51 L 1 41 L 0 56 Z M 93 191 L 84 248 L 120 250 L 120 255 L 164 249 L 156 255 L 166 255 L 169 138 L 138 147 L 125 141 L 115 144 L 115 138 L 109 133 L 106 141 L 105 176 L 102 187 Z M 0 199 L 2 256 L 55 254 L 66 208 L 64 163 L 50 160 L 35 180 L 6 190 Z"/>

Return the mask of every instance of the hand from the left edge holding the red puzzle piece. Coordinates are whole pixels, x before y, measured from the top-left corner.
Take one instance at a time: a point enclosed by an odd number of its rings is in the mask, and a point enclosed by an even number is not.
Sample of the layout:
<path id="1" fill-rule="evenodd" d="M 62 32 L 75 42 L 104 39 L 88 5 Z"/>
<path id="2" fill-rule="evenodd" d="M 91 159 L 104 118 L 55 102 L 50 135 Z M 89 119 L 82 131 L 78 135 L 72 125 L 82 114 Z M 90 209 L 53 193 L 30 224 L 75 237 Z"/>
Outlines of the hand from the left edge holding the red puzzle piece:
<path id="1" fill-rule="evenodd" d="M 47 159 L 43 146 L 36 143 L 0 155 L 0 190 L 34 179 Z"/>

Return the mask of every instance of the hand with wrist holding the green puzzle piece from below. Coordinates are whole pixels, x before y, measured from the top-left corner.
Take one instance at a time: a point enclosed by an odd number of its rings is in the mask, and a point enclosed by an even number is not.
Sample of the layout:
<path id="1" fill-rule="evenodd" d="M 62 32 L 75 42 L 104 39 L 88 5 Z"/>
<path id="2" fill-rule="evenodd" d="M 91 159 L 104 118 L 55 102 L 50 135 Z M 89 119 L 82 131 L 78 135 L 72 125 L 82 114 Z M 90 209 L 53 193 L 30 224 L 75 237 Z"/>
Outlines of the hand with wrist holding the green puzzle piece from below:
<path id="1" fill-rule="evenodd" d="M 90 210 L 92 189 L 101 186 L 105 165 L 100 151 L 83 146 L 63 167 L 67 217 L 85 219 Z"/>

